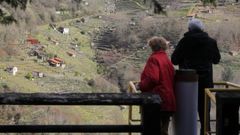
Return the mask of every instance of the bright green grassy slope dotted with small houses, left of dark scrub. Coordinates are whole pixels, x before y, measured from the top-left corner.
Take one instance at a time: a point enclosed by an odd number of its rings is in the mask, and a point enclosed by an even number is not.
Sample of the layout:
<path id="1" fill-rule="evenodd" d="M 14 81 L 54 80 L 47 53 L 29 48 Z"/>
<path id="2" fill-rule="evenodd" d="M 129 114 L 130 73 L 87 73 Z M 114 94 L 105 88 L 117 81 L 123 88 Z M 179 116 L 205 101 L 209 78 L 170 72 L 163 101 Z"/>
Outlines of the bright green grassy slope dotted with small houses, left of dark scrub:
<path id="1" fill-rule="evenodd" d="M 89 3 L 93 1 L 88 1 Z M 104 1 L 98 1 L 99 10 L 103 10 Z M 91 5 L 89 5 L 92 7 Z M 27 9 L 28 10 L 28 9 Z M 104 12 L 104 11 L 101 11 Z M 80 19 L 85 18 L 81 23 Z M 54 30 L 56 27 L 69 28 L 69 34 Z M 0 59 L 0 90 L 1 92 L 51 92 L 51 93 L 92 93 L 118 92 L 118 87 L 109 83 L 100 74 L 95 62 L 95 51 L 91 46 L 91 35 L 98 31 L 103 21 L 98 14 L 81 16 L 76 19 L 50 22 L 39 25 L 30 34 L 24 35 L 25 42 L 14 46 L 17 55 L 1 56 Z M 26 42 L 29 37 L 37 39 L 40 44 Z M 57 42 L 57 43 L 56 43 Z M 39 49 L 43 48 L 43 49 Z M 43 58 L 31 56 L 32 52 L 40 51 Z M 71 56 L 69 53 L 74 54 Z M 48 58 L 56 56 L 64 61 L 63 67 L 53 67 Z M 7 67 L 17 67 L 15 76 L 5 71 Z M 43 73 L 39 78 L 35 73 Z M 35 76 L 35 77 L 34 77 Z M 2 124 L 115 124 L 124 122 L 120 107 L 12 107 L 1 110 Z M 98 115 L 96 115 L 98 114 Z M 118 117 L 116 117 L 118 116 Z M 125 121 L 126 122 L 126 121 Z"/>

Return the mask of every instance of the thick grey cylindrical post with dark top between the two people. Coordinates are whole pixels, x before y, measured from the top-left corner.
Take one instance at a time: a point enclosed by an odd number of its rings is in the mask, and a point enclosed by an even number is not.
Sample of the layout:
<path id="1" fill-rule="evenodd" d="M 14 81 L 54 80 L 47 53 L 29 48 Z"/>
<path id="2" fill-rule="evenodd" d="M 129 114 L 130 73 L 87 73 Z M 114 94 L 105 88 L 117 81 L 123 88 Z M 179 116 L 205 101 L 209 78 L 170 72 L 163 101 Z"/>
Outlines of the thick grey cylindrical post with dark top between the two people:
<path id="1" fill-rule="evenodd" d="M 175 135 L 197 135 L 198 75 L 195 70 L 181 69 L 175 80 Z"/>

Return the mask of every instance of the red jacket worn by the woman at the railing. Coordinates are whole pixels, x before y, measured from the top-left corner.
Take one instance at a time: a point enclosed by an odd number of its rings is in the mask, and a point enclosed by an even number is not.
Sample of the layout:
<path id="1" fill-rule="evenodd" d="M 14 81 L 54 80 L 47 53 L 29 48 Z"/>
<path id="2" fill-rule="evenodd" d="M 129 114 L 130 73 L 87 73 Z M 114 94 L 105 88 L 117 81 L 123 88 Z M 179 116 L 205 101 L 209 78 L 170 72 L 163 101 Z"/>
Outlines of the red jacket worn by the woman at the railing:
<path id="1" fill-rule="evenodd" d="M 148 59 L 139 83 L 142 92 L 159 94 L 163 111 L 176 111 L 174 67 L 164 51 L 154 52 Z"/>

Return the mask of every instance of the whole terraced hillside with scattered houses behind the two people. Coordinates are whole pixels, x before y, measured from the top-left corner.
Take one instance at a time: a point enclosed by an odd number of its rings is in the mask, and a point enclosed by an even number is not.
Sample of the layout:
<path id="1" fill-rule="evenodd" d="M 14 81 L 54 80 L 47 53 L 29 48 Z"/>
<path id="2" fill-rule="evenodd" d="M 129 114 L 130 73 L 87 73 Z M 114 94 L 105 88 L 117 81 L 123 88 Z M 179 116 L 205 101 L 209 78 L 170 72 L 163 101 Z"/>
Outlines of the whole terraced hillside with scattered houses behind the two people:
<path id="1" fill-rule="evenodd" d="M 147 40 L 162 35 L 174 49 L 193 7 L 221 50 L 214 80 L 240 83 L 240 5 L 194 5 L 173 1 L 165 5 L 166 15 L 157 15 L 139 0 L 85 0 L 79 7 L 71 0 L 33 1 L 25 11 L 16 9 L 19 24 L 0 26 L 0 92 L 126 92 L 151 53 Z M 8 67 L 17 67 L 15 76 Z M 127 109 L 119 106 L 6 106 L 0 114 L 3 124 L 127 122 Z"/>

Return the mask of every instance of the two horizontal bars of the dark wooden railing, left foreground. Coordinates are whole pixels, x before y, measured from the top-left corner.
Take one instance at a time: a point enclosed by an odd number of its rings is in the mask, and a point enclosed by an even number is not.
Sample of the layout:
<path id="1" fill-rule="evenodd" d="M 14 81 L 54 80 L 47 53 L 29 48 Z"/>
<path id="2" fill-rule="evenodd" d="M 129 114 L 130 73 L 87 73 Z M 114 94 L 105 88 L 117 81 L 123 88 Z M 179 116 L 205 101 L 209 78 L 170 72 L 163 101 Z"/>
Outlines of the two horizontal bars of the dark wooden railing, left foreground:
<path id="1" fill-rule="evenodd" d="M 119 93 L 2 93 L 0 105 L 138 105 L 151 106 L 153 111 L 159 108 L 161 99 L 153 94 Z M 149 109 L 149 108 L 148 108 Z M 160 108 L 159 108 L 160 109 Z M 0 133 L 129 133 L 142 135 L 159 133 L 151 127 L 159 120 L 144 123 L 148 116 L 142 116 L 139 125 L 0 125 Z M 160 127 L 160 125 L 159 125 Z M 158 131 L 159 130 L 159 131 Z M 160 133 L 159 133 L 160 135 Z"/>

